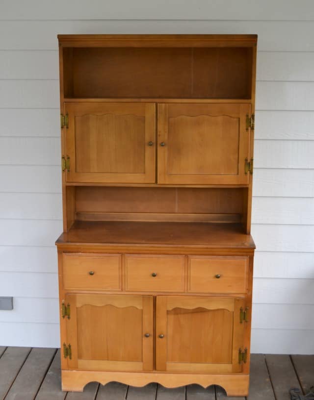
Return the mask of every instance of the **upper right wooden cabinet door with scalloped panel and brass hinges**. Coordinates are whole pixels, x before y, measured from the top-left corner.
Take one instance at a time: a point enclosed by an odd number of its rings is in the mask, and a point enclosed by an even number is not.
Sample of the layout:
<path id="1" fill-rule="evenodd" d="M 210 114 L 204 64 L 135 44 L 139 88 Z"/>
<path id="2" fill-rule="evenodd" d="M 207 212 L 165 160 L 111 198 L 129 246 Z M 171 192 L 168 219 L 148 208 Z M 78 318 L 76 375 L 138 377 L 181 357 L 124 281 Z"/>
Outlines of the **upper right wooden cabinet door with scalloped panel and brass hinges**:
<path id="1" fill-rule="evenodd" d="M 246 185 L 249 103 L 158 104 L 158 183 Z"/>

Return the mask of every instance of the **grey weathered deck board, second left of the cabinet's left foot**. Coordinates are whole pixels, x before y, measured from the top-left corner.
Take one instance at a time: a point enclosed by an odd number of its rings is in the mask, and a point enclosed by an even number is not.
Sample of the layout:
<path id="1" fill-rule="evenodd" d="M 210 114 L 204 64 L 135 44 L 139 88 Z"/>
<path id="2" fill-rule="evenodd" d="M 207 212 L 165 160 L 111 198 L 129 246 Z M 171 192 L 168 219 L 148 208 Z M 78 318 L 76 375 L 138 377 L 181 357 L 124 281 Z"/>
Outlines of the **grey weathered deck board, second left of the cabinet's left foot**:
<path id="1" fill-rule="evenodd" d="M 34 399 L 55 352 L 55 349 L 32 349 L 5 400 Z"/>

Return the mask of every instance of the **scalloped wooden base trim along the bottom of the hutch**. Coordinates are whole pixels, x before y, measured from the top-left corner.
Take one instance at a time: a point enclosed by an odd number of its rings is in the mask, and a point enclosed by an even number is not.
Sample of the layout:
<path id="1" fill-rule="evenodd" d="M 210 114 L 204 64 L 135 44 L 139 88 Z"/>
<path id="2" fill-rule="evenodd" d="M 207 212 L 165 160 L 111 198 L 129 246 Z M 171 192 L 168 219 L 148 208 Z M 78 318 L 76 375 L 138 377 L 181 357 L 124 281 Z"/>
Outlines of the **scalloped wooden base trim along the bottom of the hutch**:
<path id="1" fill-rule="evenodd" d="M 82 392 L 89 382 L 121 382 L 130 386 L 145 386 L 150 382 L 160 383 L 167 388 L 196 383 L 204 388 L 210 385 L 221 386 L 228 396 L 247 396 L 249 391 L 248 374 L 173 374 L 162 372 L 104 372 L 62 370 L 62 390 Z"/>

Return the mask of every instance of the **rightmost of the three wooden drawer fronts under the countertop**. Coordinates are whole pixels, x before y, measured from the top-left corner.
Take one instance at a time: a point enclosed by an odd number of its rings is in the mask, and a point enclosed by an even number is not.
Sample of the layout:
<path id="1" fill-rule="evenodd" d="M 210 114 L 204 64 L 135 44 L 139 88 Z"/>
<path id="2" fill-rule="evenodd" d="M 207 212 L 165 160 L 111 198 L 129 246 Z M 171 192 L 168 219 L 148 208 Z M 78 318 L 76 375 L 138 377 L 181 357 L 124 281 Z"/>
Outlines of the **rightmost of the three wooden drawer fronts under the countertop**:
<path id="1" fill-rule="evenodd" d="M 246 293 L 248 257 L 188 257 L 188 292 Z"/>

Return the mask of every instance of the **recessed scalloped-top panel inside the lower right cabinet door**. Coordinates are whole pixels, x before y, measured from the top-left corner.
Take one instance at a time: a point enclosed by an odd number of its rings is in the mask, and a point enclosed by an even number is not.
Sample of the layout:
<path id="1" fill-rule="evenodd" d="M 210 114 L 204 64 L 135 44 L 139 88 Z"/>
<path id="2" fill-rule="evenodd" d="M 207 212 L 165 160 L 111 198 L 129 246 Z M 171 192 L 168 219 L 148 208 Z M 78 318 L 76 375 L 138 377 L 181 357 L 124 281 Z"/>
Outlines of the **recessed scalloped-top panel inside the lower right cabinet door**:
<path id="1" fill-rule="evenodd" d="M 167 311 L 167 362 L 232 364 L 233 312 L 198 307 Z"/>

